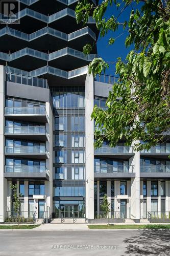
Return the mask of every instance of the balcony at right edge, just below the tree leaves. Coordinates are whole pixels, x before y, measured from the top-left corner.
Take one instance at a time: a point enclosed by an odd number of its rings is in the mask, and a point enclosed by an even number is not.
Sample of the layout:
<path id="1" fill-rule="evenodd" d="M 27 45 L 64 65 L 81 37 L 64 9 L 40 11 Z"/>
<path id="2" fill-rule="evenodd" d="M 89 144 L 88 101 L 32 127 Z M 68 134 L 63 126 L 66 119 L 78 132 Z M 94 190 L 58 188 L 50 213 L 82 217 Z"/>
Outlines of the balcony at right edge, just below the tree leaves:
<path id="1" fill-rule="evenodd" d="M 149 151 L 142 150 L 140 151 L 141 156 L 147 156 L 152 158 L 161 157 L 161 159 L 167 159 L 170 155 L 170 146 L 169 145 L 157 145 L 152 146 Z"/>

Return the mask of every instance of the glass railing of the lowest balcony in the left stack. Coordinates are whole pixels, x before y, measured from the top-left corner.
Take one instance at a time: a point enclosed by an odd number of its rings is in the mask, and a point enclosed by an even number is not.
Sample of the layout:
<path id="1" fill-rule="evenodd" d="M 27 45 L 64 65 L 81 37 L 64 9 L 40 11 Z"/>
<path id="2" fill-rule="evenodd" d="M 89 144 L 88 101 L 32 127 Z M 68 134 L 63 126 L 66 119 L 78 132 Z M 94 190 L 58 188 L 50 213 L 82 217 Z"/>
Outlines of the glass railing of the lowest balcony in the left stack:
<path id="1" fill-rule="evenodd" d="M 46 173 L 49 175 L 49 171 L 46 166 L 41 165 L 6 165 L 6 173 Z"/>

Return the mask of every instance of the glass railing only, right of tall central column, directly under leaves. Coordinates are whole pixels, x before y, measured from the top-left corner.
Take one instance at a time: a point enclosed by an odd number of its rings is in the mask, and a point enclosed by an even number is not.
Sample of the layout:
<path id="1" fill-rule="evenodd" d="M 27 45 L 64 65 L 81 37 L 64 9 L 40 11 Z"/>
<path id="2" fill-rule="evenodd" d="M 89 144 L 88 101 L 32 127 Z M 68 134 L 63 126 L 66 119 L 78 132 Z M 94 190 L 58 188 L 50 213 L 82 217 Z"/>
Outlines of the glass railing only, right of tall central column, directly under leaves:
<path id="1" fill-rule="evenodd" d="M 94 154 L 129 154 L 133 153 L 133 146 L 115 146 L 115 147 L 109 147 L 109 146 L 102 146 L 100 148 L 96 148 L 94 150 Z"/>

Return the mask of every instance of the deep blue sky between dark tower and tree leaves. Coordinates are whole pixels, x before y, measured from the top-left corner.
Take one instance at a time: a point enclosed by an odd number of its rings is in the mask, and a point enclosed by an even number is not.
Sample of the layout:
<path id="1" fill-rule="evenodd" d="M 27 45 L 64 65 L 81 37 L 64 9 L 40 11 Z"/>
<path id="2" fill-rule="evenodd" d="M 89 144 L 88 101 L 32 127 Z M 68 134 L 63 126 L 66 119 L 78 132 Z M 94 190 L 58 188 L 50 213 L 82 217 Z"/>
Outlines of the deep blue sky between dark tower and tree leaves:
<path id="1" fill-rule="evenodd" d="M 124 10 L 124 12 L 119 16 L 118 18 L 119 22 L 124 22 L 125 20 L 129 19 L 130 11 L 132 7 L 133 9 L 136 9 L 136 5 L 134 3 L 132 6 L 127 7 Z M 138 5 L 138 9 L 139 9 L 139 5 Z M 117 9 L 115 6 L 112 6 L 112 7 L 109 6 L 105 17 L 108 18 L 111 15 L 117 16 L 118 13 L 119 11 L 117 12 Z M 125 47 L 125 39 L 127 35 L 128 35 L 128 31 L 123 30 L 123 26 L 120 26 L 116 32 L 110 31 L 105 37 L 102 37 L 102 38 L 100 38 L 99 36 L 98 44 L 97 44 L 98 54 L 107 62 L 116 61 L 118 57 L 122 57 L 122 59 L 125 59 L 128 52 L 133 48 L 133 46 L 128 48 Z M 116 38 L 117 36 L 119 37 L 115 40 L 114 44 L 112 46 L 109 46 L 108 45 L 109 38 L 110 37 Z M 115 64 L 110 64 L 109 70 L 106 70 L 106 74 L 108 75 L 115 74 Z"/>

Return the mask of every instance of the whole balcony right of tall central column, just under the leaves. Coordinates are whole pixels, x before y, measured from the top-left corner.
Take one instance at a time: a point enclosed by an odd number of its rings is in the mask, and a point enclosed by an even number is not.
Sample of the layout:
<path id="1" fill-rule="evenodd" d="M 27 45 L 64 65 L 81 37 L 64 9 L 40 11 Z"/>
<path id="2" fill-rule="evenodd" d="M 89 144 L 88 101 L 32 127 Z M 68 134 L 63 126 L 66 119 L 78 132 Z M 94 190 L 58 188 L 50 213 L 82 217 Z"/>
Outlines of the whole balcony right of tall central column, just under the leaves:
<path id="1" fill-rule="evenodd" d="M 107 156 L 112 157 L 116 156 L 116 158 L 128 159 L 134 156 L 133 146 L 102 146 L 100 148 L 96 148 L 94 150 L 95 156 Z"/>

